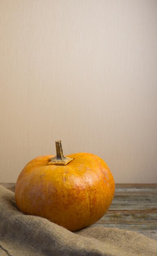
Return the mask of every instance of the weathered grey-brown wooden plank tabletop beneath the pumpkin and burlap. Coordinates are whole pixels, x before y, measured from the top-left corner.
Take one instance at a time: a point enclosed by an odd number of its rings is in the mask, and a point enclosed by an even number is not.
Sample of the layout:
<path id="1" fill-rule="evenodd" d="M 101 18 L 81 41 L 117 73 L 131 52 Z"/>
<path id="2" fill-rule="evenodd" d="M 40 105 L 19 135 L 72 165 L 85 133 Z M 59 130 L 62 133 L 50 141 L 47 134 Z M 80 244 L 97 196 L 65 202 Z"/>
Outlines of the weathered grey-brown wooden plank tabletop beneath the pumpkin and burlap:
<path id="1" fill-rule="evenodd" d="M 1 185 L 15 190 L 15 183 Z M 116 184 L 109 211 L 93 226 L 129 229 L 157 240 L 157 184 Z"/>

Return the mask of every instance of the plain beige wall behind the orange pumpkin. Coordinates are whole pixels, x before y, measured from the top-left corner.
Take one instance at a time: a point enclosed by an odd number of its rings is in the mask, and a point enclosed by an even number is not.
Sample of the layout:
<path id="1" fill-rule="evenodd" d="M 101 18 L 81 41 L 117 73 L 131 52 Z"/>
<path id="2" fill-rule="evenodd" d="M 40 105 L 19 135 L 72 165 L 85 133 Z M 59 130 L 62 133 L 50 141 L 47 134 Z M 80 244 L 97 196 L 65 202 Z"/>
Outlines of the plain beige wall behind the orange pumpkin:
<path id="1" fill-rule="evenodd" d="M 157 182 L 156 0 L 0 0 L 0 182 L 58 139 Z"/>

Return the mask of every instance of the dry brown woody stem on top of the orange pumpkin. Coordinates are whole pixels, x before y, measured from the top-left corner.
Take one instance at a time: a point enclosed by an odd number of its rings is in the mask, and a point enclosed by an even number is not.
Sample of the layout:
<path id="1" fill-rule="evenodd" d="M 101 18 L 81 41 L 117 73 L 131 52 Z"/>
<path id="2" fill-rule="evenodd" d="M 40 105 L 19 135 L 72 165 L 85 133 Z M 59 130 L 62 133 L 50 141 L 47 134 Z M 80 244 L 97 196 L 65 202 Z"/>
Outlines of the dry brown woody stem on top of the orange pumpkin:
<path id="1" fill-rule="evenodd" d="M 48 164 L 50 165 L 66 165 L 70 163 L 73 158 L 71 157 L 65 157 L 63 155 L 63 149 L 61 146 L 61 140 L 55 141 L 56 143 L 56 156 L 50 158 L 50 162 Z"/>

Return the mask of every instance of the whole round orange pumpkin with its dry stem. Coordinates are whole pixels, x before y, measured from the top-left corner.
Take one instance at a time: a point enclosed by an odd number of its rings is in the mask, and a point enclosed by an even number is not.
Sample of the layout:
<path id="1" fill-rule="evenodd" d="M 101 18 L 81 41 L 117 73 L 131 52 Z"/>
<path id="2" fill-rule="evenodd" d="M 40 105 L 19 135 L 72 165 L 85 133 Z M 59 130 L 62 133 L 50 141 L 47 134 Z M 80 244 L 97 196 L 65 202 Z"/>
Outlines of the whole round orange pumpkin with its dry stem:
<path id="1" fill-rule="evenodd" d="M 17 208 L 25 214 L 76 231 L 94 224 L 109 209 L 115 184 L 107 164 L 90 153 L 37 157 L 24 167 L 15 187 Z"/>

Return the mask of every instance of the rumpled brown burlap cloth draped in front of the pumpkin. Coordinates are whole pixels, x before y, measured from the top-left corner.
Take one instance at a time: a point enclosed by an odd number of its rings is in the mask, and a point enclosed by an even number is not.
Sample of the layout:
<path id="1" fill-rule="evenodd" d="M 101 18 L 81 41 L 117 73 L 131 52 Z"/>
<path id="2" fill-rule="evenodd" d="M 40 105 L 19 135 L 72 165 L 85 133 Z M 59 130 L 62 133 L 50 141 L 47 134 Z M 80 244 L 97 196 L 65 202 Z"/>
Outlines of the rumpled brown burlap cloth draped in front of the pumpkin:
<path id="1" fill-rule="evenodd" d="M 0 185 L 0 256 L 157 256 L 157 241 L 135 232 L 88 227 L 72 233 L 18 211 Z"/>

